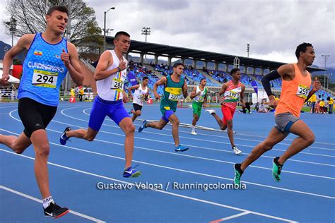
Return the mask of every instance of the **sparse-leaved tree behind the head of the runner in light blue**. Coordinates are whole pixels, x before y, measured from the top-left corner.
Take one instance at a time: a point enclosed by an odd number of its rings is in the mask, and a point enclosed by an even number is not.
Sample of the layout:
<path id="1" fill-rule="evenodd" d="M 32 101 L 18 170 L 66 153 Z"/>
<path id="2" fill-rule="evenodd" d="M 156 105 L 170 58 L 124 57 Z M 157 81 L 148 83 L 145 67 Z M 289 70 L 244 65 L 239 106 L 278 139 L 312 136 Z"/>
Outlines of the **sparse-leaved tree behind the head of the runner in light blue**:
<path id="1" fill-rule="evenodd" d="M 6 13 L 11 16 L 11 20 L 16 20 L 16 37 L 21 37 L 26 33 L 43 32 L 47 22 L 45 15 L 48 8 L 54 5 L 68 5 L 69 0 L 8 0 Z M 11 23 L 3 21 L 7 32 L 11 33 Z M 64 37 L 66 37 L 66 31 Z M 95 20 L 95 11 L 87 6 L 83 0 L 71 0 L 71 36 L 70 42 L 74 42 L 79 52 L 97 49 L 102 45 L 102 37 Z"/>

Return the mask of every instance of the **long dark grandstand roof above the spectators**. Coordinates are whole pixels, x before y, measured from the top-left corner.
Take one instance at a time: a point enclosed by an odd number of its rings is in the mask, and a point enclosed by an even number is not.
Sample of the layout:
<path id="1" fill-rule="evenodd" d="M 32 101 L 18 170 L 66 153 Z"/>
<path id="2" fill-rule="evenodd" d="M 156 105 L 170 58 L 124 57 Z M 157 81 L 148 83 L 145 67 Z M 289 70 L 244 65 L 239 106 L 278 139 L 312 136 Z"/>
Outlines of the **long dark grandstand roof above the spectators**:
<path id="1" fill-rule="evenodd" d="M 106 37 L 106 42 L 112 44 L 114 37 Z M 253 59 L 250 57 L 236 56 L 230 54 L 220 54 L 214 52 L 206 52 L 198 49 L 189 49 L 184 47 L 173 47 L 164 44 L 155 44 L 151 42 L 141 42 L 131 40 L 129 52 L 144 53 L 148 55 L 172 56 L 174 58 L 197 59 L 198 61 L 218 61 L 220 63 L 233 64 L 235 57 L 240 59 L 240 66 L 250 66 L 256 68 L 268 68 L 274 70 L 279 66 L 286 64 L 276 61 L 266 61 L 262 59 Z M 325 71 L 323 68 L 308 67 L 308 71 Z"/>

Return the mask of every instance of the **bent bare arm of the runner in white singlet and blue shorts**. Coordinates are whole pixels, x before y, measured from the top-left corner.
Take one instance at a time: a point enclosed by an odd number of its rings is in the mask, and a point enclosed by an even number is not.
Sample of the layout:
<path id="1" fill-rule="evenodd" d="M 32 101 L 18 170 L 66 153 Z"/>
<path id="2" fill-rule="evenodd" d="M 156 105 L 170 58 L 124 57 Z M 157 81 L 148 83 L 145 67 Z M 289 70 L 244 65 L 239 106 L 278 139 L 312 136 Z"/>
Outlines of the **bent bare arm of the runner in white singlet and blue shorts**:
<path id="1" fill-rule="evenodd" d="M 107 68 L 112 66 L 112 64 L 113 64 L 112 54 L 110 54 L 109 51 L 103 52 L 100 56 L 97 68 L 95 69 L 94 79 L 102 80 L 122 70 L 121 68 L 117 67 L 112 70 L 106 71 Z"/>

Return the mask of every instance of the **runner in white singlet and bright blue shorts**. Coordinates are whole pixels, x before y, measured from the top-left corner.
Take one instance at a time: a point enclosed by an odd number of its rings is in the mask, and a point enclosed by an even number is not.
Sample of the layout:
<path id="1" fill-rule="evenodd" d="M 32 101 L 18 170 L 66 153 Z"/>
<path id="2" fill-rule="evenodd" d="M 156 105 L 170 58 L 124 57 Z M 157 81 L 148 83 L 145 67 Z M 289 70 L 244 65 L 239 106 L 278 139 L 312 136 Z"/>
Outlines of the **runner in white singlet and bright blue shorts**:
<path id="1" fill-rule="evenodd" d="M 95 97 L 90 111 L 88 129 L 71 130 L 70 127 L 66 127 L 61 135 L 60 143 L 65 145 L 71 137 L 93 141 L 100 131 L 105 117 L 109 116 L 126 134 L 124 139 L 126 166 L 123 176 L 137 177 L 141 175 L 141 172 L 131 167 L 135 126 L 123 106 L 123 102 L 128 102 L 127 94 L 124 92 L 128 61 L 123 55 L 127 54 L 130 47 L 130 35 L 123 31 L 117 32 L 114 37 L 114 46 L 114 50 L 107 50 L 101 54 L 94 73 L 98 95 Z"/>

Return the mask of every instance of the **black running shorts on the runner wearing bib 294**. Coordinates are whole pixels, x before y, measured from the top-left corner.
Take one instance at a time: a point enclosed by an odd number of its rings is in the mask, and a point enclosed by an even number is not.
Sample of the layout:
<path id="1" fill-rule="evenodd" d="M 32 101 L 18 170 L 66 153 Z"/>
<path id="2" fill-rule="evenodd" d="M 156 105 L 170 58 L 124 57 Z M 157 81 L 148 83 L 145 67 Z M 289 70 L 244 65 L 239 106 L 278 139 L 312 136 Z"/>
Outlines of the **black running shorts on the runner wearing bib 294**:
<path id="1" fill-rule="evenodd" d="M 18 100 L 18 115 L 25 126 L 23 133 L 30 138 L 38 129 L 45 129 L 54 118 L 57 107 L 41 104 L 28 97 Z"/>

